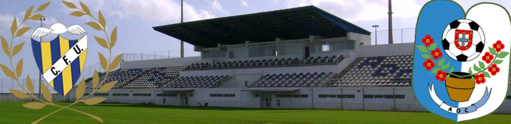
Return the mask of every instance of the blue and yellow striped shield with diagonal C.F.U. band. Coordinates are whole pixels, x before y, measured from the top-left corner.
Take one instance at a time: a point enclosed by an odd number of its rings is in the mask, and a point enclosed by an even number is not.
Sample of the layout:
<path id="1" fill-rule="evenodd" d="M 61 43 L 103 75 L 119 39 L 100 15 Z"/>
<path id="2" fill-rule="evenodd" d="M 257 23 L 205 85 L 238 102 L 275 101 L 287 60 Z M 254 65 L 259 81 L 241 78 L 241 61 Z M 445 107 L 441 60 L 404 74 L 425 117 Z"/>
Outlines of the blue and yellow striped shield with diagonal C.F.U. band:
<path id="1" fill-rule="evenodd" d="M 87 35 L 78 40 L 67 40 L 60 35 L 50 42 L 32 39 L 32 51 L 44 79 L 65 96 L 80 78 L 85 65 Z"/>

